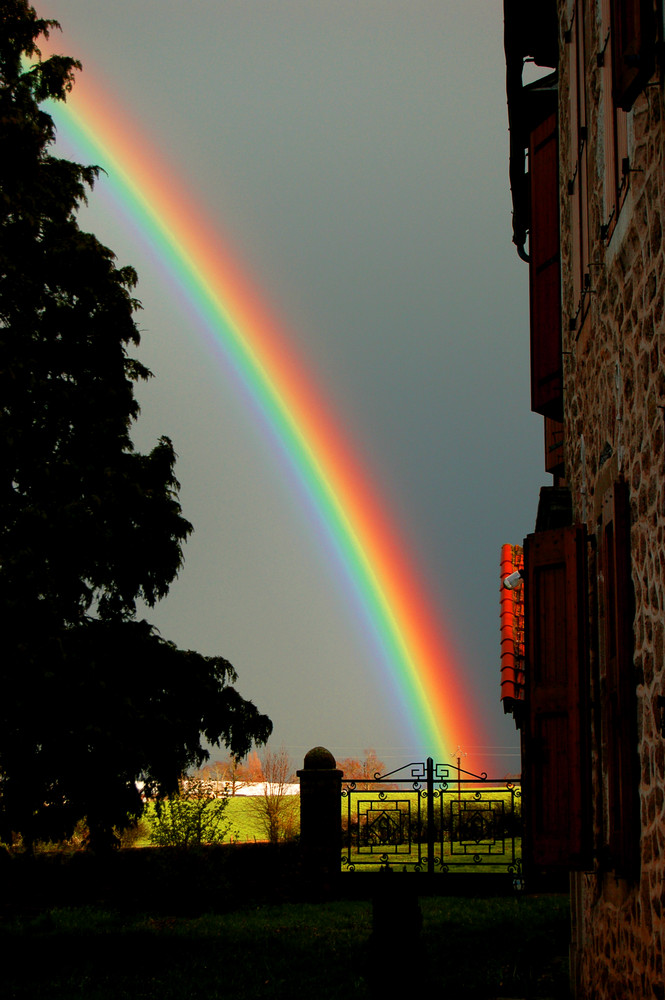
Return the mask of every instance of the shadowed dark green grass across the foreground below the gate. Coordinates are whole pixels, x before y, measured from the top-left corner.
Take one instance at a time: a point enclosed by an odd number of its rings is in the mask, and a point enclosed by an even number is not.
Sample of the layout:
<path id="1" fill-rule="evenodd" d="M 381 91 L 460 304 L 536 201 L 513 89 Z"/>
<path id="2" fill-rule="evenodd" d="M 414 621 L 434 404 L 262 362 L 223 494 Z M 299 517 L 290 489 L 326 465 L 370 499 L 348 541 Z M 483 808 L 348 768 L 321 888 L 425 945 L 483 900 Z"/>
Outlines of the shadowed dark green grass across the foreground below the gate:
<path id="1" fill-rule="evenodd" d="M 369 876 L 371 878 L 371 876 Z M 567 995 L 562 896 L 420 899 L 423 928 L 374 943 L 364 899 L 262 901 L 232 912 L 97 905 L 4 913 L 0 995 L 12 1000 L 259 1000 Z M 392 987 L 392 988 L 391 988 Z"/>

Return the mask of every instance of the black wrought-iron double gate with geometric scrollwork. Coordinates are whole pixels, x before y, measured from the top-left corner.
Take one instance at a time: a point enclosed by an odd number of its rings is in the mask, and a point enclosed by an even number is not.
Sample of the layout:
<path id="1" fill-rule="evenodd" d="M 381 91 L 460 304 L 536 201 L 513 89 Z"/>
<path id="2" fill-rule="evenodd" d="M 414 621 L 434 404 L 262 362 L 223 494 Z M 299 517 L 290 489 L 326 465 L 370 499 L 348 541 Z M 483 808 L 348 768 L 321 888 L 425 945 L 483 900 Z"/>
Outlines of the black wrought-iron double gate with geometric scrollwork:
<path id="1" fill-rule="evenodd" d="M 520 779 L 404 764 L 342 780 L 342 869 L 522 873 Z"/>

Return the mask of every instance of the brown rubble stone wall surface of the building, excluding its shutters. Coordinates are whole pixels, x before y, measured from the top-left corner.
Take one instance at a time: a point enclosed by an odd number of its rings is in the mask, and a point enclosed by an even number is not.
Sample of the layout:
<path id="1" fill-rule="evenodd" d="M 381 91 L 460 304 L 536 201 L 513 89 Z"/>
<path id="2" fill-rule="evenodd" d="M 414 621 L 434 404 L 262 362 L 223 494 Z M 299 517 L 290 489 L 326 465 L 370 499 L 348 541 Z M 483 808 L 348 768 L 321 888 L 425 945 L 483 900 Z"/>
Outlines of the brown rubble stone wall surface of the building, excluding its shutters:
<path id="1" fill-rule="evenodd" d="M 629 114 L 629 191 L 609 243 L 601 238 L 604 210 L 604 129 L 599 25 L 590 18 L 589 100 L 590 295 L 586 318 L 574 314 L 565 29 L 570 5 L 560 3 L 562 72 L 560 164 L 566 477 L 574 516 L 597 538 L 603 497 L 623 476 L 630 486 L 631 558 L 636 613 L 638 742 L 641 761 L 640 875 L 617 879 L 602 852 L 594 869 L 573 876 L 573 968 L 584 998 L 665 997 L 663 883 L 665 871 L 665 739 L 659 730 L 665 694 L 665 168 L 663 89 L 654 79 Z M 596 3 L 587 5 L 593 13 Z M 573 326 L 574 324 L 571 324 Z M 595 569 L 593 545 L 590 578 Z M 597 598 L 597 593 L 592 592 Z M 592 607 L 598 604 L 592 604 Z M 592 701 L 602 696 L 603 648 L 592 620 Z M 594 632 L 595 630 L 595 632 Z M 603 755 L 592 718 L 594 841 L 603 844 Z"/>

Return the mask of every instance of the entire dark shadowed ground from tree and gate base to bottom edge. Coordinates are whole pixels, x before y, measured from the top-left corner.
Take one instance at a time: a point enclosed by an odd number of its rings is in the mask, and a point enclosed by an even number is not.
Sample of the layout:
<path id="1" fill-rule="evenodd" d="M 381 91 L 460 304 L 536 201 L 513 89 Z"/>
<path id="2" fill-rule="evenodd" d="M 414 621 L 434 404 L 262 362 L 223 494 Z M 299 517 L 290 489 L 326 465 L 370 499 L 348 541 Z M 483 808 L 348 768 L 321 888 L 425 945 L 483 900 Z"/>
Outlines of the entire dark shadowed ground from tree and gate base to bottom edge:
<path id="1" fill-rule="evenodd" d="M 290 847 L 5 859 L 4 867 L 11 1000 L 332 1000 L 396 996 L 402 986 L 464 1000 L 567 995 L 562 895 L 430 894 L 422 876 L 413 894 L 422 929 L 398 906 L 377 936 L 380 876 L 308 886 Z M 419 879 L 394 876 L 402 877 Z"/>

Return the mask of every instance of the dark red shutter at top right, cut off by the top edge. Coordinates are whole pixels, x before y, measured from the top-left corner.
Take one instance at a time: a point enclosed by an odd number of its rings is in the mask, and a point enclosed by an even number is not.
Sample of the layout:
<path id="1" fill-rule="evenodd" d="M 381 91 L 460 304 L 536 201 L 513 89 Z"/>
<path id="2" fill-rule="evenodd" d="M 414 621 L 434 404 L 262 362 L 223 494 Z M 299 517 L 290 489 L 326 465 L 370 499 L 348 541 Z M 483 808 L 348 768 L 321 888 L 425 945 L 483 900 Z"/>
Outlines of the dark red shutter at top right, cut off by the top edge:
<path id="1" fill-rule="evenodd" d="M 612 0 L 614 100 L 630 111 L 654 69 L 651 0 Z"/>

